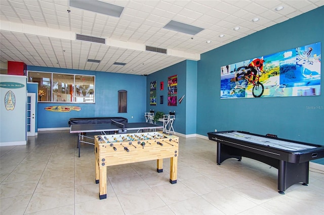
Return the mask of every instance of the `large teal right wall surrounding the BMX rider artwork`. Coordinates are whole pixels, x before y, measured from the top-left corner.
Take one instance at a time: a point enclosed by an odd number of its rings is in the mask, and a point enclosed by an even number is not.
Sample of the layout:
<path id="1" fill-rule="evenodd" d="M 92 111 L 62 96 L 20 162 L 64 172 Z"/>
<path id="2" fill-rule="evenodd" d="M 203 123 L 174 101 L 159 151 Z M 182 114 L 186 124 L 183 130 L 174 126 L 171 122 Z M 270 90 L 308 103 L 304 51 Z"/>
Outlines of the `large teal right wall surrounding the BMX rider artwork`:
<path id="1" fill-rule="evenodd" d="M 324 145 L 323 63 L 319 96 L 220 99 L 221 66 L 315 42 L 321 42 L 323 53 L 323 20 L 320 7 L 201 55 L 196 133 L 240 130 Z M 324 159 L 316 162 L 324 164 Z"/>

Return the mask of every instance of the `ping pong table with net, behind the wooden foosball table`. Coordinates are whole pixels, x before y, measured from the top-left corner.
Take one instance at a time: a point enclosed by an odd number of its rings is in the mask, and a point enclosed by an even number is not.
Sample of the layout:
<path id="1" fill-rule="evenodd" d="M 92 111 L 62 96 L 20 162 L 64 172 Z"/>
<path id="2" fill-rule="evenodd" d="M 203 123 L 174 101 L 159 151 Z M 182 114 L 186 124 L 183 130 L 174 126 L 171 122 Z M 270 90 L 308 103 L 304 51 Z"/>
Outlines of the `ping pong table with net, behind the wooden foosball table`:
<path id="1" fill-rule="evenodd" d="M 119 123 L 111 120 L 111 123 L 107 124 L 72 124 L 70 127 L 70 133 L 77 133 L 77 147 L 80 157 L 80 143 L 87 143 L 94 145 L 94 142 L 86 141 L 85 138 L 94 140 L 94 137 L 87 136 L 87 133 L 100 132 L 101 135 L 107 134 L 123 134 L 128 130 L 137 130 L 137 133 L 144 130 L 163 129 L 163 126 L 155 125 L 151 123 Z"/>

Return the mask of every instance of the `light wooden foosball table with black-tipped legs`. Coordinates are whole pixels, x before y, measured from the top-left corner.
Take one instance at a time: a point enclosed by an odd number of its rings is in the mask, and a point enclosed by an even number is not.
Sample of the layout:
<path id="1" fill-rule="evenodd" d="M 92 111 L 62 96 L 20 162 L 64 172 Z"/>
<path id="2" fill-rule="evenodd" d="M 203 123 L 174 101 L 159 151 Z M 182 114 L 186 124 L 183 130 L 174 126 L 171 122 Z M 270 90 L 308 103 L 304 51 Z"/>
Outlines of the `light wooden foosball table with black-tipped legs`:
<path id="1" fill-rule="evenodd" d="M 170 183 L 177 183 L 179 137 L 162 132 L 95 136 L 96 184 L 99 198 L 107 198 L 107 167 L 156 159 L 163 172 L 163 159 L 170 157 Z"/>

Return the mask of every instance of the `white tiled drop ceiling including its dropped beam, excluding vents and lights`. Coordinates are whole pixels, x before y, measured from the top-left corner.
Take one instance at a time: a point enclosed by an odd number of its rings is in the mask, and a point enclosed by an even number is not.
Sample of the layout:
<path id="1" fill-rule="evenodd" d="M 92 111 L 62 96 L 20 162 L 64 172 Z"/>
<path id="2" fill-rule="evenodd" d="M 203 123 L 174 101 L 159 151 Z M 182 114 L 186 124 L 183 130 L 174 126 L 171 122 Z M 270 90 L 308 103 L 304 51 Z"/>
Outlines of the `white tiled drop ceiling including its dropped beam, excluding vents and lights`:
<path id="1" fill-rule="evenodd" d="M 198 61 L 201 53 L 324 5 L 316 0 L 102 2 L 124 7 L 120 17 L 73 8 L 68 0 L 1 0 L 1 64 L 148 75 L 187 59 Z M 276 11 L 279 6 L 284 9 Z M 204 30 L 191 35 L 164 28 L 172 20 Z M 76 34 L 106 43 L 79 41 Z"/>

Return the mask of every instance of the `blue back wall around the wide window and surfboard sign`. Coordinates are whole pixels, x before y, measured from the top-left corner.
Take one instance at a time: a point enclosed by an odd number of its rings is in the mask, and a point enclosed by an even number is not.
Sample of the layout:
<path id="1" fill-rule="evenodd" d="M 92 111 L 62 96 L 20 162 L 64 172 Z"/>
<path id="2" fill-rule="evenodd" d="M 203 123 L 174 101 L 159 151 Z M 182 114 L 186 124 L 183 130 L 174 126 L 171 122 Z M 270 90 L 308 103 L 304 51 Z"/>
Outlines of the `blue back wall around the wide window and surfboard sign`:
<path id="1" fill-rule="evenodd" d="M 28 71 L 83 74 L 96 76 L 96 103 L 38 102 L 37 124 L 39 128 L 68 127 L 70 118 L 82 117 L 125 117 L 129 122 L 145 122 L 146 77 L 139 75 L 70 70 L 27 66 Z M 127 90 L 127 113 L 118 112 L 118 90 Z M 46 111 L 47 106 L 75 105 L 81 111 L 68 113 Z M 133 118 L 132 118 L 133 116 Z"/>

